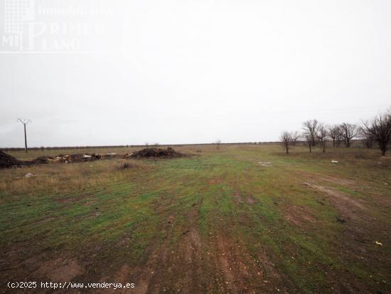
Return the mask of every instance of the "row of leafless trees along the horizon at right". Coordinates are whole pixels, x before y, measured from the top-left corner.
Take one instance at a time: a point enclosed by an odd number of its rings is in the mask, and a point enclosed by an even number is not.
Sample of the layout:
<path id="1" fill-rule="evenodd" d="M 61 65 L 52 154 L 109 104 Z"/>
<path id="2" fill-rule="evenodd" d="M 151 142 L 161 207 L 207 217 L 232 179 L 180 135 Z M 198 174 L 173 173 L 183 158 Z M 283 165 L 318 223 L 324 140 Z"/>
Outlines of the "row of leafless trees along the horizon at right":
<path id="1" fill-rule="evenodd" d="M 303 132 L 282 132 L 280 140 L 289 153 L 291 146 L 299 140 L 304 140 L 312 152 L 314 146 L 319 145 L 322 152 L 326 152 L 326 143 L 333 142 L 333 147 L 352 145 L 352 140 L 361 139 L 368 148 L 376 143 L 382 155 L 385 156 L 391 141 L 391 108 L 376 115 L 371 120 L 363 121 L 360 125 L 343 122 L 341 125 L 326 125 L 318 120 L 303 122 Z"/>

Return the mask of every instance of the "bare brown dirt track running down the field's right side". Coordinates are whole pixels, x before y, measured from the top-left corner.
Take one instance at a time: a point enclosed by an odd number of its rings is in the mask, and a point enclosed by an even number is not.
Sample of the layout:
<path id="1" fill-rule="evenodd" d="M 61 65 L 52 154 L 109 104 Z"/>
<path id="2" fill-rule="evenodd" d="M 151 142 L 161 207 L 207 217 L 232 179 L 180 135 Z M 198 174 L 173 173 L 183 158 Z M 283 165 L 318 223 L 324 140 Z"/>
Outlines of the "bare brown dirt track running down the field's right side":
<path id="1" fill-rule="evenodd" d="M 391 239 L 387 224 L 378 221 L 371 213 L 371 208 L 377 204 L 376 198 L 370 195 L 368 200 L 363 200 L 353 198 L 336 189 L 323 187 L 318 183 L 302 184 L 320 192 L 324 199 L 339 211 L 341 217 L 336 221 L 343 222 L 341 238 L 333 241 L 334 246 L 339 248 L 339 258 L 351 263 L 363 262 L 373 273 L 380 273 L 384 264 L 391 265 L 391 257 L 385 255 L 385 251 L 376 250 L 374 244 L 379 237 L 387 243 Z M 345 272 L 338 273 L 338 282 L 335 283 L 334 289 L 336 293 L 373 293 L 374 290 L 370 285 L 364 285 L 355 275 L 350 274 L 349 268 L 346 268 Z"/>

